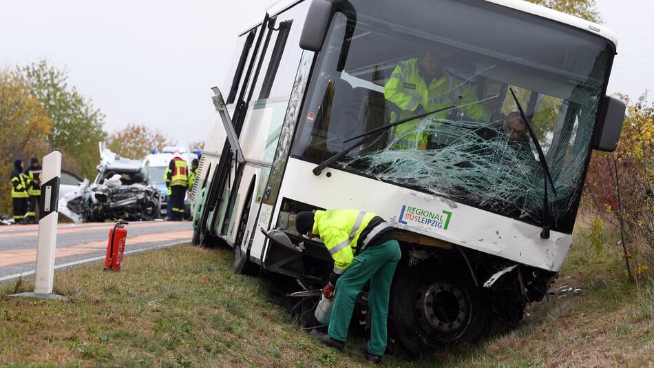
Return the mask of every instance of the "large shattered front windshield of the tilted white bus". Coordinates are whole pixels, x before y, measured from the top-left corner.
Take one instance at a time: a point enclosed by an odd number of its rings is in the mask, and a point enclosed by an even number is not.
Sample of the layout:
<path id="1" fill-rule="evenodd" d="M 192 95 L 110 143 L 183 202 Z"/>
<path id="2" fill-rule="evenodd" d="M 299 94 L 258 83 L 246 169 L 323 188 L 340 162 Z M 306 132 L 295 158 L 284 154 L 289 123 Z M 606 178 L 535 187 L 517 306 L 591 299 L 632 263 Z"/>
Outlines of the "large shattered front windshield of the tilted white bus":
<path id="1" fill-rule="evenodd" d="M 544 174 L 511 88 L 551 171 L 552 228 L 571 231 L 612 46 L 485 1 L 351 2 L 355 28 L 335 15 L 293 155 L 321 163 L 408 119 L 334 165 L 541 225 Z"/>

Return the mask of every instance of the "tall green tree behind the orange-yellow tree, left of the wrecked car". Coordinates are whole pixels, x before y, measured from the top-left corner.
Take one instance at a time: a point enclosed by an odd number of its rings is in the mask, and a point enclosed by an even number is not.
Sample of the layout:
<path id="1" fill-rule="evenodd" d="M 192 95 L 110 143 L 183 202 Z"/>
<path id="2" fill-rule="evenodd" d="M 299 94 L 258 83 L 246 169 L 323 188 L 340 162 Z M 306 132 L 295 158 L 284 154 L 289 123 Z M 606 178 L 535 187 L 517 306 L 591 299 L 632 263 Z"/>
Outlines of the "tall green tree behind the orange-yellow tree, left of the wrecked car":
<path id="1" fill-rule="evenodd" d="M 18 68 L 14 74 L 54 121 L 48 143 L 62 152 L 64 167 L 93 177 L 99 160 L 98 142 L 107 136 L 103 130 L 104 114 L 94 108 L 91 99 L 68 84 L 65 70 L 54 68 L 45 60 Z"/>

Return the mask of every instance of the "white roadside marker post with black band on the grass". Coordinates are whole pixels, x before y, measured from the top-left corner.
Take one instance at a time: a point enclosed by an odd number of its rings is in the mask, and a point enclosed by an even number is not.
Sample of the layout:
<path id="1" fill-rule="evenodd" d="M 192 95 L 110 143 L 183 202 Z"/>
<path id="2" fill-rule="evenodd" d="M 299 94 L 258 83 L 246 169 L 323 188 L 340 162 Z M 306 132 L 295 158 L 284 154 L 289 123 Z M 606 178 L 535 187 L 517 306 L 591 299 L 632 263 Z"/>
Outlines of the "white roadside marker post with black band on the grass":
<path id="1" fill-rule="evenodd" d="M 25 296 L 40 299 L 65 299 L 52 294 L 54 281 L 54 248 L 56 246 L 57 203 L 59 202 L 59 181 L 61 180 L 61 153 L 54 151 L 43 157 L 41 173 L 41 203 L 39 203 L 39 238 L 36 245 L 36 276 L 33 293 Z"/>

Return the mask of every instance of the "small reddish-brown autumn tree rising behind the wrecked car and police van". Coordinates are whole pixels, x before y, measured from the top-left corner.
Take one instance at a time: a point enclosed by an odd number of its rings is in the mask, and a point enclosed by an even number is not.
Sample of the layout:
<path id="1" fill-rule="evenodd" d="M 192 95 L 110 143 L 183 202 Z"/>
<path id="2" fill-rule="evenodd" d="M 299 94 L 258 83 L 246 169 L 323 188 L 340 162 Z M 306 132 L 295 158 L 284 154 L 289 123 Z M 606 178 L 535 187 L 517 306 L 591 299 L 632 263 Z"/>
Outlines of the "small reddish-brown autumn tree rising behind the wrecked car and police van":
<path id="1" fill-rule="evenodd" d="M 153 148 L 161 151 L 167 145 L 173 143 L 160 131 L 145 124 L 127 124 L 109 137 L 107 147 L 127 159 L 143 159 Z"/>

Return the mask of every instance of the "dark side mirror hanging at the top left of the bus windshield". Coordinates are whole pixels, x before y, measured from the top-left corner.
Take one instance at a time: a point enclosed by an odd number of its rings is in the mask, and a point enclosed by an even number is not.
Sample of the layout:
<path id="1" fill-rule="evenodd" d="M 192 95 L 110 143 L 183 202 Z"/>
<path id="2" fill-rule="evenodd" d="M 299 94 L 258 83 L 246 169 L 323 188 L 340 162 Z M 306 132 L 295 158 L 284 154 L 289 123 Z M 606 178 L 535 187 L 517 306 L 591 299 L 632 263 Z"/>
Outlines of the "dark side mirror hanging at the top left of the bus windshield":
<path id="1" fill-rule="evenodd" d="M 302 36 L 299 38 L 299 47 L 318 52 L 325 41 L 327 28 L 334 13 L 341 6 L 341 0 L 313 0 L 306 14 Z"/>

